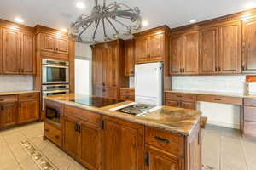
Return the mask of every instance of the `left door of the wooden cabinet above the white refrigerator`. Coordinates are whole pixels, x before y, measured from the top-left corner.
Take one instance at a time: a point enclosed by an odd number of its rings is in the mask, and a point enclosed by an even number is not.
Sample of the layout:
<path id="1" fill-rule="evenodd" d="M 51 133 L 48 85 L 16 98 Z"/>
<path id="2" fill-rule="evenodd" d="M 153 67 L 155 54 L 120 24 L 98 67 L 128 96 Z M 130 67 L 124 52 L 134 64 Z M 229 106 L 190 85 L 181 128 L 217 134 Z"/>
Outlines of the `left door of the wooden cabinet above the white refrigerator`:
<path id="1" fill-rule="evenodd" d="M 137 63 L 148 61 L 148 38 L 139 37 L 135 40 L 135 57 Z"/>

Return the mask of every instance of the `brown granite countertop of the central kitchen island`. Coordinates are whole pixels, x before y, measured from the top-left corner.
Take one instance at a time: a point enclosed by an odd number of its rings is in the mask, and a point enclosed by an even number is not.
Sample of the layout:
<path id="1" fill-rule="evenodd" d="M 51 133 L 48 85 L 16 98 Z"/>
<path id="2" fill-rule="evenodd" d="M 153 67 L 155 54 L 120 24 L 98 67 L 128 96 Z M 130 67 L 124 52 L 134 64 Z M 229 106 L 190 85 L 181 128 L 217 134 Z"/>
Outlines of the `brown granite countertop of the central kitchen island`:
<path id="1" fill-rule="evenodd" d="M 182 108 L 160 106 L 159 110 L 153 111 L 147 116 L 132 116 L 119 111 L 108 111 L 119 105 L 125 105 L 130 101 L 121 102 L 115 105 L 108 105 L 102 108 L 96 108 L 88 105 L 81 105 L 70 100 L 82 99 L 83 95 L 79 94 L 61 94 L 55 96 L 47 96 L 44 99 L 62 103 L 65 105 L 75 106 L 87 111 L 94 111 L 98 114 L 113 116 L 130 122 L 137 122 L 148 127 L 157 127 L 170 133 L 188 136 L 192 133 L 195 125 L 200 121 L 201 112 L 195 110 L 187 110 Z"/>

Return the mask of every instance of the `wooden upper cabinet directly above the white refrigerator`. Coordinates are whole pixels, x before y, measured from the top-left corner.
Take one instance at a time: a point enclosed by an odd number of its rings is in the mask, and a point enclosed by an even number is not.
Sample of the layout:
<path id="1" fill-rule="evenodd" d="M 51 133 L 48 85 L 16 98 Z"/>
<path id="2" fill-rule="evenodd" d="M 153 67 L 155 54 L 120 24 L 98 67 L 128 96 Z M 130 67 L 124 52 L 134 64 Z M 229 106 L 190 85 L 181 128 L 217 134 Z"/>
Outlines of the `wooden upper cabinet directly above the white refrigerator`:
<path id="1" fill-rule="evenodd" d="M 168 34 L 167 26 L 134 34 L 136 63 L 164 61 L 167 55 Z"/>

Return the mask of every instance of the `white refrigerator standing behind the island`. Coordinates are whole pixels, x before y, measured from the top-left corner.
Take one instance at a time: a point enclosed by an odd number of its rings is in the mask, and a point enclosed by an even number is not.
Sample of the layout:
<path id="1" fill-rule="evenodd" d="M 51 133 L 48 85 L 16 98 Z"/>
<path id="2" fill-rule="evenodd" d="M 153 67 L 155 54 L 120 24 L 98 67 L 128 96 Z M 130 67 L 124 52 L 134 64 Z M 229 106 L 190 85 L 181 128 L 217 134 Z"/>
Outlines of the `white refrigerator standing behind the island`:
<path id="1" fill-rule="evenodd" d="M 163 63 L 135 65 L 135 102 L 163 105 Z"/>

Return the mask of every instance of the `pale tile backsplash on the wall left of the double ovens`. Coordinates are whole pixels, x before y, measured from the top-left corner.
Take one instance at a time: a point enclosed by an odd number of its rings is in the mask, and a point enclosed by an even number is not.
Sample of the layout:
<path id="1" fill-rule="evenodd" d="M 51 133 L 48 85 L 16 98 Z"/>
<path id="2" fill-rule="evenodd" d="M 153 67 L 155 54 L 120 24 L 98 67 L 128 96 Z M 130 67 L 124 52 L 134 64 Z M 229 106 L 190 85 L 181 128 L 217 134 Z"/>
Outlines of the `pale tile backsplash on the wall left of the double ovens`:
<path id="1" fill-rule="evenodd" d="M 0 75 L 0 92 L 26 91 L 32 89 L 32 76 Z"/>

